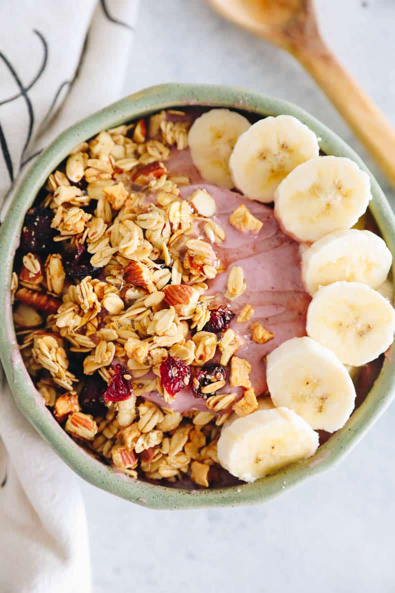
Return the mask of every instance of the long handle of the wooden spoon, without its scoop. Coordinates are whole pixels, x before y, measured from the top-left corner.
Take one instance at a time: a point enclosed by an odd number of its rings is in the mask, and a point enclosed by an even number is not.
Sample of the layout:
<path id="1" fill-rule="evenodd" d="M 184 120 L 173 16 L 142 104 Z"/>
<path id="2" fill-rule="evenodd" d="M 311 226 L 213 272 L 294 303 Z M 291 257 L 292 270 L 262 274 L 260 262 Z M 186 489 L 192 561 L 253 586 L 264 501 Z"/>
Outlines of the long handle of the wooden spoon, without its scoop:
<path id="1" fill-rule="evenodd" d="M 371 152 L 395 189 L 395 132 L 390 122 L 322 40 L 294 47 L 292 53 Z"/>

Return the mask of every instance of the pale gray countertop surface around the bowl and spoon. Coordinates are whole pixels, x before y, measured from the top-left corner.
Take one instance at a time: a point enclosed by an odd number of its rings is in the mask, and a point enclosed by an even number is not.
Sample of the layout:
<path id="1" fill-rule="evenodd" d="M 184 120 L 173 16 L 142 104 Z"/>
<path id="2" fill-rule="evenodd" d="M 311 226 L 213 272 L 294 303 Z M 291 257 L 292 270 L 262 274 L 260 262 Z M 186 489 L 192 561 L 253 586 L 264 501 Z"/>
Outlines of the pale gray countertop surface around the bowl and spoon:
<path id="1" fill-rule="evenodd" d="M 394 0 L 317 0 L 339 59 L 395 125 Z M 203 0 L 140 0 L 125 94 L 159 82 L 234 84 L 313 113 L 395 194 L 325 95 L 284 52 Z M 150 511 L 82 483 L 95 593 L 393 593 L 395 406 L 327 473 L 264 506 Z"/>

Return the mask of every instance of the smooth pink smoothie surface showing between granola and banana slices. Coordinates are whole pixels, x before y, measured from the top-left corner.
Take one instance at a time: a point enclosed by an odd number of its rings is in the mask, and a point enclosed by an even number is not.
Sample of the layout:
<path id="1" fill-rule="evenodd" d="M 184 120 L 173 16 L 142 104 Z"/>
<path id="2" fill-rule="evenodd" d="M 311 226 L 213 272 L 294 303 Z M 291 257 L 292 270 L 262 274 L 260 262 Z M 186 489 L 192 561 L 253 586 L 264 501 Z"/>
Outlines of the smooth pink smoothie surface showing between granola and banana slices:
<path id="1" fill-rule="evenodd" d="M 230 327 L 245 340 L 237 350 L 237 356 L 250 362 L 252 387 L 259 396 L 267 388 L 265 356 L 285 340 L 306 335 L 306 311 L 310 297 L 304 292 L 301 282 L 298 243 L 282 233 L 272 208 L 237 192 L 205 183 L 192 164 L 189 149 L 173 151 L 166 167 L 174 175 L 190 177 L 191 184 L 181 188 L 182 198 L 188 199 L 196 189 L 206 189 L 216 201 L 214 219 L 224 229 L 226 238 L 219 246 L 213 247 L 226 270 L 207 281 L 208 294 L 216 295 L 217 304 L 229 304 L 235 313 Z M 242 203 L 263 222 L 258 234 L 240 232 L 230 225 L 229 216 Z M 201 238 L 207 240 L 205 235 Z M 247 289 L 242 296 L 229 301 L 224 295 L 228 270 L 232 266 L 242 267 Z M 237 323 L 237 314 L 245 304 L 252 305 L 255 313 L 250 321 Z M 274 339 L 266 344 L 252 342 L 253 321 L 259 321 L 271 331 Z M 228 369 L 226 371 L 229 374 Z M 227 383 L 219 393 L 237 393 L 237 397 L 241 397 L 242 388 L 230 387 Z M 163 406 L 163 399 L 158 393 L 144 394 L 144 397 Z M 176 395 L 170 407 L 179 412 L 207 409 L 204 400 L 195 398 L 189 387 Z"/>

